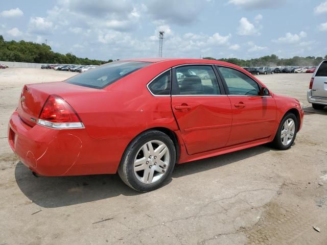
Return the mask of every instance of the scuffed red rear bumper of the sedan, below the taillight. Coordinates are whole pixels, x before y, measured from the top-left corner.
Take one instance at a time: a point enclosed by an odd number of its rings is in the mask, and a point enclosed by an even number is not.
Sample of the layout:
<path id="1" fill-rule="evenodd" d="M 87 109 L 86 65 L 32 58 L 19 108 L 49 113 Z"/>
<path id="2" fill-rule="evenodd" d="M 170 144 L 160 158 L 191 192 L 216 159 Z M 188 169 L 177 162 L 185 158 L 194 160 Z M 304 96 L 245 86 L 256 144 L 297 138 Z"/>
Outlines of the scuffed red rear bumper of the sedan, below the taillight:
<path id="1" fill-rule="evenodd" d="M 120 139 L 94 139 L 85 129 L 30 127 L 15 111 L 10 117 L 8 142 L 20 161 L 39 175 L 114 174 L 124 145 Z"/>

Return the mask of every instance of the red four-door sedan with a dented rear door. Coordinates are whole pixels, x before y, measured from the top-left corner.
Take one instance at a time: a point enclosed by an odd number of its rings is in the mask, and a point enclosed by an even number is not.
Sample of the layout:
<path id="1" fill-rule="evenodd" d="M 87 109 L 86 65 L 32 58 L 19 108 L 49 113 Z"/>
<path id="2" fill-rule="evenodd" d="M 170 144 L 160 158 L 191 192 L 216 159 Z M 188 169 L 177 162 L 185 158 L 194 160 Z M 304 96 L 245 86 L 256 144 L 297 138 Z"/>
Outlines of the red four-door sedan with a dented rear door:
<path id="1" fill-rule="evenodd" d="M 200 59 L 116 61 L 63 82 L 25 85 L 8 140 L 34 173 L 119 173 L 138 191 L 175 163 L 272 142 L 286 150 L 303 110 L 239 66 Z"/>

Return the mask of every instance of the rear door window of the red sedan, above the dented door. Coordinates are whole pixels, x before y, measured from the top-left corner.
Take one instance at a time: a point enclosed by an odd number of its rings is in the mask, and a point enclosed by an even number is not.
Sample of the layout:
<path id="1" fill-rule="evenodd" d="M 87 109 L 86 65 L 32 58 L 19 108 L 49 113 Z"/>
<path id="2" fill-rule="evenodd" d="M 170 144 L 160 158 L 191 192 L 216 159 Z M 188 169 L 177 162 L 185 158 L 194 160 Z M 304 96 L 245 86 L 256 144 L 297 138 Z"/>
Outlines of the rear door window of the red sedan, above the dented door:
<path id="1" fill-rule="evenodd" d="M 182 66 L 175 74 L 180 95 L 221 94 L 212 66 Z"/>

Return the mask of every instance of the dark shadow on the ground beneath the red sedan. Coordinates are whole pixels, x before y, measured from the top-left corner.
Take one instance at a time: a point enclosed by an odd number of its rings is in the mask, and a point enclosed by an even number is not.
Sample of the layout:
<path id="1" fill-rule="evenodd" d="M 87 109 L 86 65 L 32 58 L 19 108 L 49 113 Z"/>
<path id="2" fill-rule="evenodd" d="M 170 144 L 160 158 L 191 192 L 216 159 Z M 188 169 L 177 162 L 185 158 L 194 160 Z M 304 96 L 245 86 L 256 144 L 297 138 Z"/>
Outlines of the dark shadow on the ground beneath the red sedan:
<path id="1" fill-rule="evenodd" d="M 177 164 L 172 178 L 192 175 L 201 171 L 218 168 L 251 156 L 274 151 L 268 145 L 211 157 L 185 164 Z M 18 162 L 15 168 L 18 187 L 35 204 L 45 208 L 63 207 L 97 200 L 117 197 L 118 195 L 139 195 L 125 185 L 118 175 L 91 175 L 68 177 L 38 177 L 30 169 Z M 171 179 L 172 180 L 172 179 Z M 166 184 L 171 182 L 169 180 Z"/>

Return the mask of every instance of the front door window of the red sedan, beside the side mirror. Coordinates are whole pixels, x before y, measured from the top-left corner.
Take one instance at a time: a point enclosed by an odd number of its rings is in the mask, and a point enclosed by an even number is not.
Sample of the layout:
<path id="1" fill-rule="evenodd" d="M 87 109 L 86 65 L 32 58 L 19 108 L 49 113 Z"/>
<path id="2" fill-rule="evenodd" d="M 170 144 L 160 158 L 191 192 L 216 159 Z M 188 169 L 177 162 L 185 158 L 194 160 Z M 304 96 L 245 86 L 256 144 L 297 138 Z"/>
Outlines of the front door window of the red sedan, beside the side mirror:
<path id="1" fill-rule="evenodd" d="M 259 95 L 258 83 L 246 76 L 243 72 L 227 68 L 217 67 L 227 84 L 231 95 Z"/>

